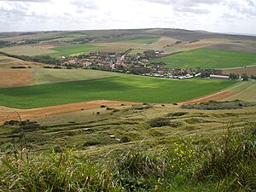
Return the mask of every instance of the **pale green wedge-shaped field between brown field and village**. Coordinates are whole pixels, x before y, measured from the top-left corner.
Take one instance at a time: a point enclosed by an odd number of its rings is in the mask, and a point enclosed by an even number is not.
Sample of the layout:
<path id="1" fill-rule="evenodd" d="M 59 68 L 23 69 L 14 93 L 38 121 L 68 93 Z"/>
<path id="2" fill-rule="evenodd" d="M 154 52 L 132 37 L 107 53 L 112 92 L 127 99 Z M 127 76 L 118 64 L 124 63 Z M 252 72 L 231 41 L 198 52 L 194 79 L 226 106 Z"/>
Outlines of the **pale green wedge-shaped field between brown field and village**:
<path id="1" fill-rule="evenodd" d="M 122 75 L 121 73 L 111 73 L 96 70 L 56 70 L 46 68 L 32 68 L 34 84 L 52 84 L 66 81 L 79 81 L 88 79 L 102 79 Z"/>

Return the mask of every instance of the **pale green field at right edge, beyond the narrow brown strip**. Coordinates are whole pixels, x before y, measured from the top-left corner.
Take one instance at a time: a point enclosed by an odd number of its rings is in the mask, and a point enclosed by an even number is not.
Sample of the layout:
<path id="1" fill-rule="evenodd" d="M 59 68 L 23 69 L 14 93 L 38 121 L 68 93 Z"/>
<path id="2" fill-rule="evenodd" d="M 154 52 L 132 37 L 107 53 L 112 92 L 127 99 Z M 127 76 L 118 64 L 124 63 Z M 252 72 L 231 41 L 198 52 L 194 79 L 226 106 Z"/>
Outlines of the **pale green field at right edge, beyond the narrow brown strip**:
<path id="1" fill-rule="evenodd" d="M 235 94 L 225 98 L 223 101 L 238 99 L 245 102 L 256 102 L 256 81 L 254 80 L 235 84 L 226 90 Z"/>

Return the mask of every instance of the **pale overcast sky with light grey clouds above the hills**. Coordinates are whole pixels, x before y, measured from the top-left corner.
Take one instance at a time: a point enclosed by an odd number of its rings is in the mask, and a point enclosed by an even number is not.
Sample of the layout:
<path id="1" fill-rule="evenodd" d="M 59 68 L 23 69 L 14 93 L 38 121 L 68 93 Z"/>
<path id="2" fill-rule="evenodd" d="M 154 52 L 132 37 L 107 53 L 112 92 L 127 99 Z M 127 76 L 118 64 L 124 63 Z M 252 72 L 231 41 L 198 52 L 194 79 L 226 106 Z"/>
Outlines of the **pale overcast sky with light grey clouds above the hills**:
<path id="1" fill-rule="evenodd" d="M 256 0 L 0 0 L 0 32 L 149 27 L 256 34 Z"/>

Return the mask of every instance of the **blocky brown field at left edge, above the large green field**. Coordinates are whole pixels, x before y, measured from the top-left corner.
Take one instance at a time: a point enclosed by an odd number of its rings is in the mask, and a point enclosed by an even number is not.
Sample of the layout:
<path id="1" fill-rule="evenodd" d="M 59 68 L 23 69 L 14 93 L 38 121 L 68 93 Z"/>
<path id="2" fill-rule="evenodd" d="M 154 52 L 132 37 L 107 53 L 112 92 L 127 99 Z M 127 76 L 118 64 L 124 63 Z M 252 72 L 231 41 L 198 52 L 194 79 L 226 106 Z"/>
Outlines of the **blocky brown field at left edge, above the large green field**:
<path id="1" fill-rule="evenodd" d="M 0 88 L 32 85 L 32 74 L 27 70 L 0 70 Z"/>

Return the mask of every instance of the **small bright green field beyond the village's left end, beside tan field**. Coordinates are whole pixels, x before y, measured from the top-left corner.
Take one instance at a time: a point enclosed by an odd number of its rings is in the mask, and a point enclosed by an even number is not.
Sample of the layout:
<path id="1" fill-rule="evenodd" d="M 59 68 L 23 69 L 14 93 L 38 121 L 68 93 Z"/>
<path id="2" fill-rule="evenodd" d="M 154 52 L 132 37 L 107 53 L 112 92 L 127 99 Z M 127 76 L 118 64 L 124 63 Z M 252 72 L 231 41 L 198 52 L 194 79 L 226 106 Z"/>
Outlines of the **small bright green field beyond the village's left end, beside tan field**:
<path id="1" fill-rule="evenodd" d="M 61 47 L 55 47 L 52 50 L 58 51 L 56 53 L 47 54 L 52 57 L 56 56 L 70 56 L 76 54 L 84 54 L 90 51 L 95 51 L 96 49 L 100 49 L 102 47 L 95 46 L 91 44 L 68 44 Z"/>

